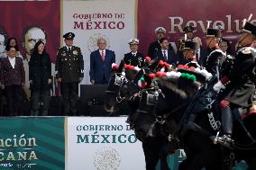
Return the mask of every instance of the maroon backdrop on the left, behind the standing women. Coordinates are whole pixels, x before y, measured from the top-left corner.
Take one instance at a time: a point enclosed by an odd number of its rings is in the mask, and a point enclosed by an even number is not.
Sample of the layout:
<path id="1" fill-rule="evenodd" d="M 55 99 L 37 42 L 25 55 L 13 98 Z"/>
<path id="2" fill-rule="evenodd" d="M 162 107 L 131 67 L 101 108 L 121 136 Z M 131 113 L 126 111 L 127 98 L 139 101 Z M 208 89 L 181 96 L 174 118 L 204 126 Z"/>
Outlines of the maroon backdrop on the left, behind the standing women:
<path id="1" fill-rule="evenodd" d="M 23 57 L 25 52 L 25 33 L 32 27 L 31 39 L 46 39 L 46 49 L 55 62 L 59 48 L 60 17 L 59 0 L 52 1 L 2 1 L 0 2 L 0 26 L 7 31 L 8 37 L 18 40 Z M 43 35 L 45 34 L 45 35 Z M 33 42 L 32 42 L 33 43 Z"/>

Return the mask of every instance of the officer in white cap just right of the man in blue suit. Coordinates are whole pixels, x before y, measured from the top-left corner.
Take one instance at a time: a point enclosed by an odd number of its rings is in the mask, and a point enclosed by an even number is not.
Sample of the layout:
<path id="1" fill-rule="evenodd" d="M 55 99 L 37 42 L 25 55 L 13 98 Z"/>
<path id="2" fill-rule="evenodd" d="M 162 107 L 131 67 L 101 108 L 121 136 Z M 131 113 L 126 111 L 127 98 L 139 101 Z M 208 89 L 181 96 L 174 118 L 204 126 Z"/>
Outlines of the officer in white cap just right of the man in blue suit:
<path id="1" fill-rule="evenodd" d="M 131 52 L 124 54 L 123 61 L 127 65 L 133 65 L 134 67 L 143 67 L 144 66 L 144 57 L 143 54 L 138 52 L 139 49 L 139 40 L 132 39 L 129 41 Z"/>

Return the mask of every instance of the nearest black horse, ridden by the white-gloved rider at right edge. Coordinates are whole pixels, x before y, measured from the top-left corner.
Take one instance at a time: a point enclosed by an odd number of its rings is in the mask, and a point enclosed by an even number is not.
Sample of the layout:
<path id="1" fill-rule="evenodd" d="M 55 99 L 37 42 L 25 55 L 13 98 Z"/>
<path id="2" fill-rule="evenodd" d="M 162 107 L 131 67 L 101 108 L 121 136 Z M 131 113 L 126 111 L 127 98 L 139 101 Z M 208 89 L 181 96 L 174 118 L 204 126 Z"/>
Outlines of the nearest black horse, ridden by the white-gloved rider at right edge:
<path id="1" fill-rule="evenodd" d="M 234 160 L 242 159 L 247 160 L 251 169 L 255 169 L 256 164 L 253 158 L 255 157 L 256 145 L 253 138 L 256 136 L 256 130 L 255 126 L 252 125 L 255 118 L 236 122 L 237 126 L 235 126 L 235 135 L 233 136 L 236 143 L 233 146 L 225 148 L 219 144 L 215 145 L 213 139 L 220 129 L 217 123 L 220 119 L 217 112 L 218 106 L 213 104 L 214 109 L 211 111 L 215 113 L 210 112 L 209 108 L 198 108 L 197 101 L 199 98 L 195 100 L 195 95 L 198 94 L 200 84 L 191 82 L 186 78 L 157 78 L 155 82 L 155 87 L 141 91 L 139 108 L 130 118 L 139 139 L 149 140 L 148 137 L 157 134 L 159 129 L 165 130 L 165 134 L 169 134 L 171 142 L 177 135 L 187 154 L 187 159 L 179 166 L 181 170 L 200 170 L 203 167 L 206 167 L 207 170 L 232 169 Z M 208 90 L 211 92 L 211 85 L 208 85 L 207 89 L 201 88 L 203 92 Z M 161 104 L 162 112 L 154 111 L 156 107 L 152 103 L 156 102 L 154 100 L 156 93 L 158 96 L 157 104 Z M 197 108 L 193 108 L 195 105 L 191 107 L 191 102 L 194 102 Z M 193 122 L 188 119 L 190 118 L 187 114 L 189 108 L 194 111 L 192 115 L 197 113 L 196 118 L 192 116 Z M 186 120 L 189 122 L 187 123 Z M 251 134 L 247 130 L 251 131 Z"/>

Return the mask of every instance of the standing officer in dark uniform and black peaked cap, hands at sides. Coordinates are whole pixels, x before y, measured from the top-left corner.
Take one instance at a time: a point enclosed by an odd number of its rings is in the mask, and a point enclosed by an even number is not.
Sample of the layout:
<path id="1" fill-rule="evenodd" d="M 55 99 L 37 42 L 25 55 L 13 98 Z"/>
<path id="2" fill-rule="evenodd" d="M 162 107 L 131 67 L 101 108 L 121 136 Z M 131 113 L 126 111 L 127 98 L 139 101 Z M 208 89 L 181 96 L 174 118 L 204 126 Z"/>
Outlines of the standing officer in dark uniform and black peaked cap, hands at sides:
<path id="1" fill-rule="evenodd" d="M 73 32 L 66 33 L 65 46 L 58 49 L 56 58 L 56 78 L 60 82 L 61 95 L 64 100 L 64 113 L 77 113 L 78 84 L 84 77 L 84 60 L 81 49 L 73 46 Z"/>

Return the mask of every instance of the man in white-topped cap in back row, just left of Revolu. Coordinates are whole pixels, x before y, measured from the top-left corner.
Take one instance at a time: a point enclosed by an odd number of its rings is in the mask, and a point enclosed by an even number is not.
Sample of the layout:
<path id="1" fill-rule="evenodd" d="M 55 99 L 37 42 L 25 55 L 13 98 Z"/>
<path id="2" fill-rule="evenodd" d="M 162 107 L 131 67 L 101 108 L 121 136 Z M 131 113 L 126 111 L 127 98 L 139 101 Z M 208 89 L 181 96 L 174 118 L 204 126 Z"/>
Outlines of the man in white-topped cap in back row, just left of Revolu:
<path id="1" fill-rule="evenodd" d="M 165 32 L 166 32 L 166 30 L 163 27 L 158 27 L 158 28 L 155 29 L 155 34 L 156 34 L 157 40 L 152 42 L 150 47 L 149 47 L 149 50 L 148 50 L 148 56 L 149 57 L 152 58 L 154 56 L 155 52 L 157 50 L 161 49 L 160 48 L 160 39 L 165 37 Z"/>

